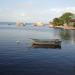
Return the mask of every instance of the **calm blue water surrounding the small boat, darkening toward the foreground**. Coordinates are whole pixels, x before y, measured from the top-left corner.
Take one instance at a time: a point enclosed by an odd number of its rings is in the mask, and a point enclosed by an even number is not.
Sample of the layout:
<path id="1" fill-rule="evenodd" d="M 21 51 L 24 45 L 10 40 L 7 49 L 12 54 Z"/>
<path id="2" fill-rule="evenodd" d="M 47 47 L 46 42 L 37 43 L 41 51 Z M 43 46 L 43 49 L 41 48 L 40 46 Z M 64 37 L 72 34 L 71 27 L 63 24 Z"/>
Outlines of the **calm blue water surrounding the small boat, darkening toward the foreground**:
<path id="1" fill-rule="evenodd" d="M 30 38 L 60 38 L 61 49 L 32 48 Z M 75 31 L 0 25 L 0 75 L 75 75 Z"/>

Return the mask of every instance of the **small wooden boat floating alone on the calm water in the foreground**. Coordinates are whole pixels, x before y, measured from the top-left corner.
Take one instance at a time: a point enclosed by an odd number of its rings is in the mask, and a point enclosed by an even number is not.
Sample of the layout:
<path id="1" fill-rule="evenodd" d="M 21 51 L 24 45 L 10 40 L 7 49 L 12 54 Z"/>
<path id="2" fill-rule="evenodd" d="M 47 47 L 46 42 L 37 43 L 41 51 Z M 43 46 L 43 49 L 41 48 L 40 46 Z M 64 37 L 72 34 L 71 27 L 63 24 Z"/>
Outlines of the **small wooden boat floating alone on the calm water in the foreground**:
<path id="1" fill-rule="evenodd" d="M 34 48 L 61 48 L 60 39 L 32 39 L 32 47 Z"/>

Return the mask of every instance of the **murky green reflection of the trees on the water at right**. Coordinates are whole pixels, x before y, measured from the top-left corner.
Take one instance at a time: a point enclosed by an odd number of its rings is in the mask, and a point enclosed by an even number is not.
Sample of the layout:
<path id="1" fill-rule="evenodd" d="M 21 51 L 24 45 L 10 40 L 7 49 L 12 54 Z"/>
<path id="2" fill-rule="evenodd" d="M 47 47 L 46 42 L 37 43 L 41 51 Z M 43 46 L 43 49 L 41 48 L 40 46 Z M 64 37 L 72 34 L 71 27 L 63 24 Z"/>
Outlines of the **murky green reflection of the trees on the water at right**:
<path id="1" fill-rule="evenodd" d="M 61 30 L 60 37 L 64 41 L 75 43 L 75 30 Z"/>

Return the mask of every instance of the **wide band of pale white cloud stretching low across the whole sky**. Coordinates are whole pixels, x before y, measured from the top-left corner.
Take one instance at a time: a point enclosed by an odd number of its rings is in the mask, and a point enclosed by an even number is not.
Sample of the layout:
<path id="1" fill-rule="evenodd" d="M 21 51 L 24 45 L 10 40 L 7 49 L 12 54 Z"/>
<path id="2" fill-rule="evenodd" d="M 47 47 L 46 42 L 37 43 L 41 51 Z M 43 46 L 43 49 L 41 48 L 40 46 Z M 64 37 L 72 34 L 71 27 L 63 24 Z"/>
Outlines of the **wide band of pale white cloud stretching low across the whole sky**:
<path id="1" fill-rule="evenodd" d="M 26 5 L 27 7 L 30 5 Z M 18 11 L 19 9 L 1 9 L 0 10 L 0 19 L 6 20 L 26 20 L 27 22 L 34 21 L 49 21 L 55 17 L 61 16 L 65 12 L 75 13 L 75 7 L 67 7 L 67 8 L 48 8 L 48 9 L 36 9 L 36 10 L 25 10 Z"/>

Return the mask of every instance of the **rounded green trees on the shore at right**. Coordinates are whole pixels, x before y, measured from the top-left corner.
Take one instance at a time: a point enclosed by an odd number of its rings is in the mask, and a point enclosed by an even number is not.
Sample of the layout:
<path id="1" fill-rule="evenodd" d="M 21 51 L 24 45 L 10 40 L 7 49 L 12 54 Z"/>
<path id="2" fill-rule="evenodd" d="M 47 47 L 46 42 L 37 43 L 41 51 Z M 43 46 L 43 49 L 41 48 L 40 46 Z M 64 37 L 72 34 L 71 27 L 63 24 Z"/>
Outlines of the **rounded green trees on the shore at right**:
<path id="1" fill-rule="evenodd" d="M 69 25 L 70 20 L 73 18 L 73 16 L 73 13 L 66 12 L 59 18 L 54 18 L 52 24 L 53 26 L 63 26 L 64 24 Z"/>

